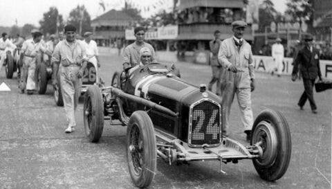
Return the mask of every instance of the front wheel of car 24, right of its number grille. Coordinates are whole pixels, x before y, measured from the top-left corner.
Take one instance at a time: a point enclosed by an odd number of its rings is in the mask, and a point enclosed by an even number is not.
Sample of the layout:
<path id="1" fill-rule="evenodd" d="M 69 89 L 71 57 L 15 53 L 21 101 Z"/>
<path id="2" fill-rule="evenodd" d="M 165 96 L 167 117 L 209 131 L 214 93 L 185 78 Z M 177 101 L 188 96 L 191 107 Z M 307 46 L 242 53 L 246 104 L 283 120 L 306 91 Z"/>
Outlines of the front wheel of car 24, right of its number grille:
<path id="1" fill-rule="evenodd" d="M 292 142 L 286 118 L 279 111 L 265 109 L 252 127 L 250 144 L 262 141 L 263 155 L 252 159 L 259 177 L 266 181 L 280 179 L 291 160 Z"/>

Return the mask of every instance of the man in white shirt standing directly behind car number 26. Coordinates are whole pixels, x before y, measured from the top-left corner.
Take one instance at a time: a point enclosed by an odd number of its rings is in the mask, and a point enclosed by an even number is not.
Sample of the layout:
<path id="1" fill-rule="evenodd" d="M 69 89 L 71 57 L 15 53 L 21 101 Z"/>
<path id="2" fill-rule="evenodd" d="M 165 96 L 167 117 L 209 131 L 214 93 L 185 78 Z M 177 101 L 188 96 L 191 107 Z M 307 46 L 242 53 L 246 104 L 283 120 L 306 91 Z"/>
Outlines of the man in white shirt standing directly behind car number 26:
<path id="1" fill-rule="evenodd" d="M 100 68 L 100 63 L 99 63 L 99 53 L 98 53 L 98 47 L 97 43 L 91 39 L 91 32 L 86 32 L 84 33 L 84 40 L 82 41 L 82 44 L 84 44 L 86 48 L 86 56 L 88 57 L 88 61 L 95 66 L 95 75 L 96 78 L 100 78 L 99 75 L 99 68 Z M 100 80 L 97 80 L 97 84 L 100 83 Z"/>

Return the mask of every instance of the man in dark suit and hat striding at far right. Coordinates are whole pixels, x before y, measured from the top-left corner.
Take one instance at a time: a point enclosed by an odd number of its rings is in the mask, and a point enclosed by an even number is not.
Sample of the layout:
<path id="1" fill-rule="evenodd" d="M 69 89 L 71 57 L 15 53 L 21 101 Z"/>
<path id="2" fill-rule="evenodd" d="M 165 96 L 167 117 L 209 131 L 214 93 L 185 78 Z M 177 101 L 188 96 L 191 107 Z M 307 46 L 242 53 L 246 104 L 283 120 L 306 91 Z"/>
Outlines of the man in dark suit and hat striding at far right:
<path id="1" fill-rule="evenodd" d="M 306 99 L 309 100 L 311 111 L 317 114 L 317 106 L 313 99 L 313 85 L 317 76 L 322 80 L 322 73 L 320 73 L 320 52 L 313 48 L 313 36 L 304 35 L 304 47 L 297 53 L 295 64 L 293 67 L 292 80 L 296 80 L 297 71 L 302 74 L 304 92 L 299 98 L 299 109 L 303 109 Z M 299 64 L 301 65 L 299 68 Z"/>

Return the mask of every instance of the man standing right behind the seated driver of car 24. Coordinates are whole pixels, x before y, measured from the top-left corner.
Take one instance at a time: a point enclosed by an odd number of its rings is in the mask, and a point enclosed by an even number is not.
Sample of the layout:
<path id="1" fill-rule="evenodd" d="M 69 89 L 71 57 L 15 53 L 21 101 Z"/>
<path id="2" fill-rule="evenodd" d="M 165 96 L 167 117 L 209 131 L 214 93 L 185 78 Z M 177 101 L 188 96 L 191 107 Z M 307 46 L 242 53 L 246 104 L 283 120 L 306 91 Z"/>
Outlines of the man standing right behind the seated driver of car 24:
<path id="1" fill-rule="evenodd" d="M 154 52 L 154 48 L 151 44 L 144 42 L 145 39 L 145 28 L 137 27 L 134 29 L 134 34 L 136 37 L 136 41 L 133 44 L 129 44 L 126 48 L 124 48 L 123 53 L 123 69 L 124 71 L 128 71 L 130 68 L 136 66 L 140 63 L 140 49 L 143 47 L 147 47 L 151 51 L 151 59 L 152 62 L 155 61 L 156 53 Z"/>

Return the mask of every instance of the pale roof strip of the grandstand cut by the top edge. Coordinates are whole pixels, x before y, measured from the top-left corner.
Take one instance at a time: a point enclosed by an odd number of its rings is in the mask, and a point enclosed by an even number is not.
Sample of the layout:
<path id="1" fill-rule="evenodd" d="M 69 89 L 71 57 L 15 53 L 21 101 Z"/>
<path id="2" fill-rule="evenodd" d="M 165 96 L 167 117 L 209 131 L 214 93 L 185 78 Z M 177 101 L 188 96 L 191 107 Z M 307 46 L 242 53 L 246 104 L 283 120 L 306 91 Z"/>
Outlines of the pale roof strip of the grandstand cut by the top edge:
<path id="1" fill-rule="evenodd" d="M 211 8 L 243 8 L 243 0 L 181 0 L 179 9 L 193 7 L 211 7 Z"/>

